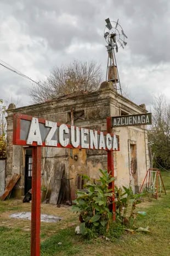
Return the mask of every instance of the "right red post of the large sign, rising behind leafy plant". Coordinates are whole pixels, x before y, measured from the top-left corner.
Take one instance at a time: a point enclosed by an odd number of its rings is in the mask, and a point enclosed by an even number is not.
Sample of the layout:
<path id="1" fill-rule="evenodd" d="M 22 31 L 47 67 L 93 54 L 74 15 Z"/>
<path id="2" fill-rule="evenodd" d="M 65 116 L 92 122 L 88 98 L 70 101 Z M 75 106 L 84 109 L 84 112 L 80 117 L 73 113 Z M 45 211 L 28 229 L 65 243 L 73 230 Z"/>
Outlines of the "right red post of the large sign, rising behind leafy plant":
<path id="1" fill-rule="evenodd" d="M 107 117 L 107 133 L 112 133 L 111 117 Z M 107 172 L 111 172 L 111 176 L 114 177 L 114 155 L 113 151 L 107 151 Z M 115 203 L 115 182 L 111 184 L 113 197 L 112 197 L 112 212 L 113 220 L 116 220 L 116 203 Z"/>

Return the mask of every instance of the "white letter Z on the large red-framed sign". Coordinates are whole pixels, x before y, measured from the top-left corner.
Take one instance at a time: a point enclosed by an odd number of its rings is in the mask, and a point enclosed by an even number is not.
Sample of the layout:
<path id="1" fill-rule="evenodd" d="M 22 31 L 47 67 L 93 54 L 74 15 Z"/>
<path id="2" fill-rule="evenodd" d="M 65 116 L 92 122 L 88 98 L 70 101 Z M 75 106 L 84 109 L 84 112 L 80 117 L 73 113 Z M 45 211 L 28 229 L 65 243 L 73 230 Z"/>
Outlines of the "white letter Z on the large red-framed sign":
<path id="1" fill-rule="evenodd" d="M 52 139 L 53 135 L 54 135 L 54 133 L 56 131 L 57 123 L 46 120 L 45 126 L 46 127 L 51 127 L 51 129 L 49 130 L 49 133 L 47 134 L 47 137 L 46 137 L 46 140 L 45 140 L 45 144 L 47 146 L 57 146 L 57 140 Z"/>

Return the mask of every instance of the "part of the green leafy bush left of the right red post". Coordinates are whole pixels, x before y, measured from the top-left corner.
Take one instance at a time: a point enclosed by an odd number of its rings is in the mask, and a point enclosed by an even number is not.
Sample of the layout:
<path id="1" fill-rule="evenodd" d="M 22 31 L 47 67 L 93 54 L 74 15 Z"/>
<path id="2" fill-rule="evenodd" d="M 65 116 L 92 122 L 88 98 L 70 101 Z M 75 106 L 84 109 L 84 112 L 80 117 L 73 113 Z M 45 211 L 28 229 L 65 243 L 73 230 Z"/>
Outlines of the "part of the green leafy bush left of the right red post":
<path id="1" fill-rule="evenodd" d="M 82 235 L 93 236 L 94 233 L 104 235 L 112 223 L 112 213 L 109 205 L 112 203 L 112 189 L 109 184 L 114 178 L 106 170 L 99 170 L 100 178 L 96 183 L 90 181 L 88 176 L 86 190 L 78 191 L 75 205 L 72 210 L 80 213 L 80 231 Z"/>

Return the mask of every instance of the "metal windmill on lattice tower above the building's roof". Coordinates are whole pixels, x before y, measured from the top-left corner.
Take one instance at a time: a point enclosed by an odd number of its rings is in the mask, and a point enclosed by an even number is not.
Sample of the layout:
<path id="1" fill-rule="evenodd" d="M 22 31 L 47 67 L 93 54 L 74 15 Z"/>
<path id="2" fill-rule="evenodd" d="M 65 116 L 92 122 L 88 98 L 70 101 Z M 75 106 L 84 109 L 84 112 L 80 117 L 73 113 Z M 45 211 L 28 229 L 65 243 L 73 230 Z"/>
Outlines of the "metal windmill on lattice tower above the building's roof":
<path id="1" fill-rule="evenodd" d="M 116 57 L 115 57 L 115 50 L 118 52 L 118 48 L 127 45 L 127 42 L 124 41 L 125 37 L 127 36 L 124 34 L 124 31 L 120 24 L 118 24 L 118 20 L 110 21 L 109 18 L 105 19 L 106 26 L 104 30 L 104 38 L 107 42 L 106 48 L 108 52 L 108 59 L 107 59 L 107 72 L 106 72 L 106 80 L 112 81 L 114 89 L 116 91 L 120 91 L 122 95 L 121 83 L 120 78 L 118 75 Z"/>

